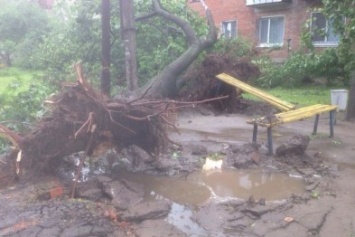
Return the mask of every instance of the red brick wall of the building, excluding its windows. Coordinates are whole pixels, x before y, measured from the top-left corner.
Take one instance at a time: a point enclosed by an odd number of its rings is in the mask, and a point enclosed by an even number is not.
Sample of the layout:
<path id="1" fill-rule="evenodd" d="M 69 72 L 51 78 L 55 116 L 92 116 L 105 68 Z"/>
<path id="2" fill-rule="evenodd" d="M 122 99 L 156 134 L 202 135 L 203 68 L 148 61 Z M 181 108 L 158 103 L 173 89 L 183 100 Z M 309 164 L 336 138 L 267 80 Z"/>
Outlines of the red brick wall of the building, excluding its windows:
<path id="1" fill-rule="evenodd" d="M 300 48 L 302 26 L 310 17 L 308 9 L 312 5 L 312 3 L 308 3 L 305 0 L 293 0 L 291 4 L 279 9 L 261 9 L 247 7 L 246 0 L 205 0 L 205 2 L 211 9 L 218 28 L 220 28 L 222 21 L 237 20 L 238 36 L 251 40 L 261 53 L 270 55 L 275 61 L 283 61 L 287 58 L 287 39 L 291 39 L 291 51 Z M 204 9 L 201 3 L 191 3 L 191 1 L 188 0 L 188 5 L 201 15 L 204 15 Z M 258 47 L 258 19 L 260 19 L 260 17 L 269 16 L 283 16 L 285 19 L 284 42 L 283 46 L 278 49 Z"/>

